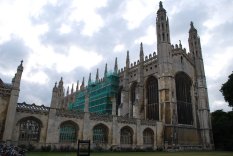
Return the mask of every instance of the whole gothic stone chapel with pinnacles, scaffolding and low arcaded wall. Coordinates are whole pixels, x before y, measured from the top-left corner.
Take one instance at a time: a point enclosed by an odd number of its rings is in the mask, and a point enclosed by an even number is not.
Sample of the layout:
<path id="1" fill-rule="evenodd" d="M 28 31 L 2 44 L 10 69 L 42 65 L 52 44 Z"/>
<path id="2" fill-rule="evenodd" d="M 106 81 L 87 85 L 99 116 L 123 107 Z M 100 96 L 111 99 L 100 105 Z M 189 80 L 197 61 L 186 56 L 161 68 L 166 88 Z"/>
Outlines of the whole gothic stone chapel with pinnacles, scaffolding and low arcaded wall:
<path id="1" fill-rule="evenodd" d="M 8 84 L 0 79 L 0 140 L 15 144 L 91 148 L 212 149 L 212 129 L 201 42 L 193 23 L 189 52 L 172 45 L 162 2 L 156 17 L 157 53 L 103 78 L 77 83 L 64 93 L 63 79 L 52 90 L 50 107 L 18 103 L 23 62 Z"/>

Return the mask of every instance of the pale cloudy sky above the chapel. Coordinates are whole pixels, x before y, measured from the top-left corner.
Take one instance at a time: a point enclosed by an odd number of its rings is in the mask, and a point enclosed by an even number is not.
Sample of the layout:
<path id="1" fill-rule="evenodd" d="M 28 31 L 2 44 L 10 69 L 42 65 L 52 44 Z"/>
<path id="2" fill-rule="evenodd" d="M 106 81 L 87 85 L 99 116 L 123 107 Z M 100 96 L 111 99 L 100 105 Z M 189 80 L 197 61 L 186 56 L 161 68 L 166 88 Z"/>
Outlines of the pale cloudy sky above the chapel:
<path id="1" fill-rule="evenodd" d="M 171 42 L 188 49 L 190 21 L 201 37 L 211 111 L 231 110 L 219 92 L 233 69 L 233 1 L 165 0 Z M 62 76 L 65 88 L 156 51 L 158 0 L 1 0 L 0 78 L 11 82 L 24 60 L 19 102 L 49 105 Z M 94 77 L 94 76 L 93 76 Z"/>

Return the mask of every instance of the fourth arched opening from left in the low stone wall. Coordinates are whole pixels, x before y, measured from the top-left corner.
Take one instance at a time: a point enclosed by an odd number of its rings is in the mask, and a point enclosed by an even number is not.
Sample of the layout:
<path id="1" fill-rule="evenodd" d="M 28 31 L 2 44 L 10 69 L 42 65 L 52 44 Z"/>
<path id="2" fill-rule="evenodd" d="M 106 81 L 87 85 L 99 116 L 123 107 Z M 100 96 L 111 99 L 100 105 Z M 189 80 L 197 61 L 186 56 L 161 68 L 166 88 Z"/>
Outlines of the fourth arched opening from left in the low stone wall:
<path id="1" fill-rule="evenodd" d="M 123 127 L 121 129 L 121 144 L 132 145 L 133 144 L 133 132 L 129 127 Z"/>

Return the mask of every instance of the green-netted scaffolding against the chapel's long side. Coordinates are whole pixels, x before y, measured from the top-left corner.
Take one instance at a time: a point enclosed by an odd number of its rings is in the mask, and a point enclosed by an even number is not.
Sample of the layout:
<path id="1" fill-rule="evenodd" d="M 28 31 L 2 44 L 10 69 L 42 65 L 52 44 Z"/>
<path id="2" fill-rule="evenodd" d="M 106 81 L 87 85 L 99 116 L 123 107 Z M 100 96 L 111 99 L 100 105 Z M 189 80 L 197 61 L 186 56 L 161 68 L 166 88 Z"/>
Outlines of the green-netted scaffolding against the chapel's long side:
<path id="1" fill-rule="evenodd" d="M 69 104 L 69 110 L 84 111 L 85 97 L 89 95 L 89 112 L 111 114 L 111 98 L 116 97 L 119 87 L 119 76 L 116 73 L 107 74 L 103 80 L 89 82 L 83 91 L 76 93 L 74 103 Z"/>

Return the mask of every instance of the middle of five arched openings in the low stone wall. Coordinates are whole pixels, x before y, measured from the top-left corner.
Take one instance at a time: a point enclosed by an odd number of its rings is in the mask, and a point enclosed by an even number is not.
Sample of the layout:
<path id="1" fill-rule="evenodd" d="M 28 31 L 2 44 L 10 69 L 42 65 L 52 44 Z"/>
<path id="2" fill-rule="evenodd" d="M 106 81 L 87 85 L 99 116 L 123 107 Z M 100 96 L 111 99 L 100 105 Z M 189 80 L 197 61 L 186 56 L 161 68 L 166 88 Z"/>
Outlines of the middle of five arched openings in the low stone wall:
<path id="1" fill-rule="evenodd" d="M 93 128 L 93 143 L 108 143 L 108 128 L 105 125 L 99 124 Z"/>

